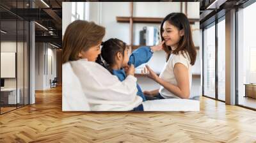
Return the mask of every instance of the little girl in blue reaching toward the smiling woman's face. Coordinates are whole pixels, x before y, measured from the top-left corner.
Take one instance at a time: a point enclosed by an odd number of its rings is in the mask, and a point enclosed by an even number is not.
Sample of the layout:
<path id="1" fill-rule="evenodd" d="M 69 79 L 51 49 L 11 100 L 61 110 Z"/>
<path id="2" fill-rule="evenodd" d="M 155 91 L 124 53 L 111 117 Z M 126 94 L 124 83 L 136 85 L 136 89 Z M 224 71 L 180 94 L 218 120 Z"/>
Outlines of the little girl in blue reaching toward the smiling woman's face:
<path id="1" fill-rule="evenodd" d="M 104 59 L 104 61 L 106 61 L 104 66 L 109 70 L 109 72 L 116 75 L 120 81 L 123 81 L 126 78 L 124 71 L 125 67 L 133 64 L 136 68 L 143 63 L 147 63 L 152 57 L 154 51 L 161 50 L 163 48 L 162 45 L 163 42 L 152 47 L 140 47 L 134 50 L 129 57 L 129 49 L 124 41 L 111 38 L 102 42 L 101 57 Z M 146 99 L 138 84 L 137 89 L 137 95 L 140 96 L 144 102 Z"/>

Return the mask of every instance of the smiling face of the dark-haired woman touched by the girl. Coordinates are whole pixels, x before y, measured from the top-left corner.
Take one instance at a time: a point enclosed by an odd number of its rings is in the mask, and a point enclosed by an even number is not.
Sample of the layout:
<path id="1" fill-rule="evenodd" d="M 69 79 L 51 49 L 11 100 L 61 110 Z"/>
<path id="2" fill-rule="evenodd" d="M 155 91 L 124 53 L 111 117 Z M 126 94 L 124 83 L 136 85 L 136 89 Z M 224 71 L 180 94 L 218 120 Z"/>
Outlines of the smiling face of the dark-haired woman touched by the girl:
<path id="1" fill-rule="evenodd" d="M 184 34 L 182 30 L 179 30 L 177 27 L 173 26 L 168 21 L 164 22 L 162 36 L 164 38 L 165 45 L 177 47 L 183 35 Z"/>

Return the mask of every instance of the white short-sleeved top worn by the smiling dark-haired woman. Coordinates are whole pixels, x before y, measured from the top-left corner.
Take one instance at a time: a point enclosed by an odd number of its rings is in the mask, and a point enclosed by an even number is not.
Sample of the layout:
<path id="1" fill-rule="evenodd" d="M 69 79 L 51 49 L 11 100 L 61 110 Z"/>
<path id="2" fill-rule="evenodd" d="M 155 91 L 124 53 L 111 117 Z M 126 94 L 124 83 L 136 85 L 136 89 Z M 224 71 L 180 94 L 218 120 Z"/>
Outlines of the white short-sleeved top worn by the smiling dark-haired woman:
<path id="1" fill-rule="evenodd" d="M 188 74 L 189 74 L 189 90 L 191 90 L 191 82 L 192 82 L 192 71 L 191 71 L 191 64 L 189 61 L 188 54 L 180 51 L 179 54 L 171 54 L 168 61 L 165 63 L 164 68 L 162 72 L 160 73 L 159 77 L 166 82 L 170 82 L 170 84 L 173 84 L 177 86 L 177 80 L 175 79 L 173 68 L 176 63 L 184 64 L 188 68 Z M 164 98 L 179 98 L 179 96 L 176 96 L 175 94 L 171 93 L 167 89 L 165 89 L 163 86 L 160 86 L 159 93 Z"/>

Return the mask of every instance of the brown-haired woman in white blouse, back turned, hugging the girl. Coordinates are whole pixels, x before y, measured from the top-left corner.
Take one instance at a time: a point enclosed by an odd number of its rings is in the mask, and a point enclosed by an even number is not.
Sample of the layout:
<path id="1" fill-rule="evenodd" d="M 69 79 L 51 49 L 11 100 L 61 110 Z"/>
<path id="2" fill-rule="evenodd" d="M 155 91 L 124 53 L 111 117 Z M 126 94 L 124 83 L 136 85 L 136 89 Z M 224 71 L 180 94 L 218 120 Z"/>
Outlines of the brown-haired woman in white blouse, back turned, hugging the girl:
<path id="1" fill-rule="evenodd" d="M 121 82 L 106 68 L 95 63 L 104 34 L 105 28 L 93 22 L 76 20 L 68 25 L 63 37 L 63 69 L 71 70 L 68 70 L 70 74 L 64 75 L 75 75 L 79 79 L 83 95 L 77 94 L 74 89 L 67 94 L 67 89 L 63 89 L 64 103 L 69 109 L 75 110 L 79 110 L 76 106 L 83 103 L 88 104 L 88 110 L 93 111 L 133 110 L 138 106 L 143 110 L 142 100 L 136 95 L 137 79 L 134 77 L 133 65 L 129 66 L 127 77 Z M 66 78 L 63 77 L 63 88 L 68 88 Z"/>

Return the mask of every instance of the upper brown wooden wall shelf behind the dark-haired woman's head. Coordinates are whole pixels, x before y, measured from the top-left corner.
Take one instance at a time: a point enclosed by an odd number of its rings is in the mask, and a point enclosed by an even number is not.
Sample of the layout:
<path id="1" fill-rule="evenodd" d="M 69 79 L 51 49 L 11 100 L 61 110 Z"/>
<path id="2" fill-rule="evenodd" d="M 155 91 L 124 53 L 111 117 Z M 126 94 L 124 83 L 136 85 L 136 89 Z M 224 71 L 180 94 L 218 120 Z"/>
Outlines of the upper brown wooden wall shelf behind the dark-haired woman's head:
<path id="1" fill-rule="evenodd" d="M 164 18 L 161 17 L 116 17 L 117 22 L 129 23 L 132 18 L 132 22 L 134 23 L 155 23 L 161 24 L 161 21 Z M 199 22 L 199 19 L 189 19 L 190 24 L 195 24 L 195 22 Z"/>

